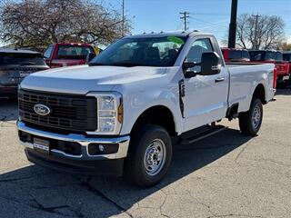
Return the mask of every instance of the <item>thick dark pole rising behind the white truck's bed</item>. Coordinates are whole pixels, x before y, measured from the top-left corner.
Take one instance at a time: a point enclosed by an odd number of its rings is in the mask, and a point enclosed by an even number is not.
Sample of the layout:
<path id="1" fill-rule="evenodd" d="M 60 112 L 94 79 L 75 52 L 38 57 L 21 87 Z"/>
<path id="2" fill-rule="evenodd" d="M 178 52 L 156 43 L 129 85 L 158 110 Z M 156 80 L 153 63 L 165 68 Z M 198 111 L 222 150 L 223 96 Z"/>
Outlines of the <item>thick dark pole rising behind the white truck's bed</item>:
<path id="1" fill-rule="evenodd" d="M 228 47 L 236 47 L 236 15 L 237 15 L 237 0 L 232 0 L 231 3 L 231 16 L 228 32 Z"/>

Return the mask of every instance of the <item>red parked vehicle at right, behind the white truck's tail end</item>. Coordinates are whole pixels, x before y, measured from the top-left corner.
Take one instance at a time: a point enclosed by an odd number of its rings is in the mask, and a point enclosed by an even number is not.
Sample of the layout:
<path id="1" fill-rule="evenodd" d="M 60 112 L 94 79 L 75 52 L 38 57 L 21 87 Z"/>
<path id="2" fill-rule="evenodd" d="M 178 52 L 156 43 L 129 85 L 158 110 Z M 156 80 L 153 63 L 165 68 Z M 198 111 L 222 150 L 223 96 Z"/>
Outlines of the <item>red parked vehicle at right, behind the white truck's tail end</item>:
<path id="1" fill-rule="evenodd" d="M 272 63 L 276 65 L 276 84 L 286 85 L 290 78 L 289 63 L 283 60 L 283 54 L 279 51 L 249 51 L 250 60 L 253 63 Z"/>

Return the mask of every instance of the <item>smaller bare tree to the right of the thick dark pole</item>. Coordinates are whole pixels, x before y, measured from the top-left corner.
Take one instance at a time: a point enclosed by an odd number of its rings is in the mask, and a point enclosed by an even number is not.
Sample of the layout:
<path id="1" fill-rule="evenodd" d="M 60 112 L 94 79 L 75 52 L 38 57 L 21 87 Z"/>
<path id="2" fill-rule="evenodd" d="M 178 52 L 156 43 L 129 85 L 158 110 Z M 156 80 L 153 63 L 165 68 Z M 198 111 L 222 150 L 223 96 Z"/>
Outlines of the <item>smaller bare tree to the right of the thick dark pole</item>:
<path id="1" fill-rule="evenodd" d="M 240 15 L 236 45 L 250 49 L 276 49 L 284 40 L 284 21 L 276 15 Z"/>

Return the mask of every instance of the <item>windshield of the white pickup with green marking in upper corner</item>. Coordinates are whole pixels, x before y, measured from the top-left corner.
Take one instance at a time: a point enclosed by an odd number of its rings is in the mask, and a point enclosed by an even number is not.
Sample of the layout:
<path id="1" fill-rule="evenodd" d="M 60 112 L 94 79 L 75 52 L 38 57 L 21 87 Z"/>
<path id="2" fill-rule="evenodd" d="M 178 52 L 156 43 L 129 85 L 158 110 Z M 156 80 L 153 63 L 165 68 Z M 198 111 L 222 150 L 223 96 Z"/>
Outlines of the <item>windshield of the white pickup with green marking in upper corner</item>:
<path id="1" fill-rule="evenodd" d="M 187 37 L 124 38 L 97 55 L 90 65 L 173 66 Z"/>

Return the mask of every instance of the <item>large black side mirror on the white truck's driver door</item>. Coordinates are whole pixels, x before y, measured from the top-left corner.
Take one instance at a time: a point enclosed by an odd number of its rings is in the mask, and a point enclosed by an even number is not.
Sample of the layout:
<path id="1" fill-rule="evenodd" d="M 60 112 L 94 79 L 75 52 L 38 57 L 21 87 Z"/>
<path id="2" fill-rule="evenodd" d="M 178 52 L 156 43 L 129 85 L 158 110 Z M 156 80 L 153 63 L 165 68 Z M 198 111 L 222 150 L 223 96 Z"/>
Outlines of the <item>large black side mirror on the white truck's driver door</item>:
<path id="1" fill-rule="evenodd" d="M 216 52 L 206 52 L 201 57 L 201 75 L 219 74 L 221 64 L 219 64 L 219 55 Z"/>

